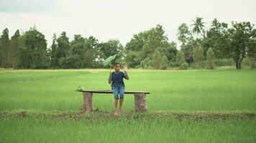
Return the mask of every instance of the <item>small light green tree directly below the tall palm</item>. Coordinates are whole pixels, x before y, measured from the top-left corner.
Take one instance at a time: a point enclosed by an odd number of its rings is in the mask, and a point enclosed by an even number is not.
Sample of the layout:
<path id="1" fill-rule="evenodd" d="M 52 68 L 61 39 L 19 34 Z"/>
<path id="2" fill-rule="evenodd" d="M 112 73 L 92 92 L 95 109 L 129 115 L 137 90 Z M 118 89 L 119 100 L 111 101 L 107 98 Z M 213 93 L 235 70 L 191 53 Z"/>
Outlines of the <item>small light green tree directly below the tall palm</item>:
<path id="1" fill-rule="evenodd" d="M 197 46 L 193 50 L 193 61 L 196 63 L 196 67 L 201 67 L 201 62 L 204 61 L 204 49 L 202 46 Z"/>

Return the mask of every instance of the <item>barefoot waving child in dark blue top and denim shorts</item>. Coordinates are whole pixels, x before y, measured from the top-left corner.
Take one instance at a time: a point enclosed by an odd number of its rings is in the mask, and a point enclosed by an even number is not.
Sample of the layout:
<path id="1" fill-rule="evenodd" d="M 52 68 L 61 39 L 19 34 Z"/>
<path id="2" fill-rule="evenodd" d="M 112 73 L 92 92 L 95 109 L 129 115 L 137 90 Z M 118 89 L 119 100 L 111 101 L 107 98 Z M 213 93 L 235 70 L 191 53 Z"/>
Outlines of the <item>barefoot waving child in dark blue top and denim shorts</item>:
<path id="1" fill-rule="evenodd" d="M 129 76 L 127 74 L 127 65 L 124 66 L 124 72 L 119 71 L 120 64 L 114 64 L 113 72 L 109 73 L 109 84 L 111 84 L 111 89 L 114 94 L 114 114 L 117 115 L 117 105 L 119 99 L 119 113 L 122 114 L 122 104 L 124 101 L 124 79 L 129 80 Z M 120 97 L 119 97 L 120 94 Z"/>

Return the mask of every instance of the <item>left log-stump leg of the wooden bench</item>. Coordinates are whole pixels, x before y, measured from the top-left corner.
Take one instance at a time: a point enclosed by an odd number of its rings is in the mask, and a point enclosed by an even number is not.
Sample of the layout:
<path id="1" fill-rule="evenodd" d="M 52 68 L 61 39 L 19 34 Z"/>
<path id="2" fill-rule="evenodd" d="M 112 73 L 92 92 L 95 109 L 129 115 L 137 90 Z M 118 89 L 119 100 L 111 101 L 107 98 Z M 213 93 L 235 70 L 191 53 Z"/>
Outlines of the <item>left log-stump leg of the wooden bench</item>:
<path id="1" fill-rule="evenodd" d="M 91 92 L 83 92 L 83 112 L 93 111 L 93 94 Z"/>

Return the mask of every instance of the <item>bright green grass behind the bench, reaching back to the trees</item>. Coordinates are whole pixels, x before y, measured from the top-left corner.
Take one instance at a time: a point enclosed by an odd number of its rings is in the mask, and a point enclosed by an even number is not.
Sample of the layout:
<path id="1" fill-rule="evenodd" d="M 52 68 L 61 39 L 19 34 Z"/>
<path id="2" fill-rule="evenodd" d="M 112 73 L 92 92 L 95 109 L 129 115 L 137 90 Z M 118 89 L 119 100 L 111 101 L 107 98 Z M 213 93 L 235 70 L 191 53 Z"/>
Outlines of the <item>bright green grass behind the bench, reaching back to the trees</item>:
<path id="1" fill-rule="evenodd" d="M 85 89 L 110 89 L 108 70 L 22 71 L 0 74 L 0 110 L 78 110 Z M 129 71 L 127 91 L 149 91 L 150 111 L 248 111 L 256 109 L 255 70 Z M 93 107 L 113 109 L 111 94 L 95 94 Z M 125 97 L 132 110 L 134 97 Z"/>

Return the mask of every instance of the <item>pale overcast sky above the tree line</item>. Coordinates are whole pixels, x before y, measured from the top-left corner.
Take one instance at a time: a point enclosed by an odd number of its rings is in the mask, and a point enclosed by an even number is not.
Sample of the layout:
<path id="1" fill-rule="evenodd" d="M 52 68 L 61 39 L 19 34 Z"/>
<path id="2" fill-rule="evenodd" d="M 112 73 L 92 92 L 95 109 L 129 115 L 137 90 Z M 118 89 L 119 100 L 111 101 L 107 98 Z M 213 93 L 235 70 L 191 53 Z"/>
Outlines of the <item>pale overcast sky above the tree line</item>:
<path id="1" fill-rule="evenodd" d="M 178 26 L 191 26 L 196 16 L 206 27 L 214 18 L 256 24 L 255 6 L 255 0 L 0 0 L 0 31 L 8 28 L 11 37 L 36 26 L 48 47 L 62 31 L 70 40 L 81 34 L 125 45 L 134 34 L 161 24 L 169 41 L 178 42 Z"/>

